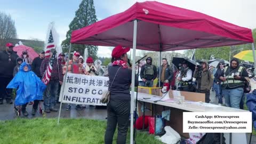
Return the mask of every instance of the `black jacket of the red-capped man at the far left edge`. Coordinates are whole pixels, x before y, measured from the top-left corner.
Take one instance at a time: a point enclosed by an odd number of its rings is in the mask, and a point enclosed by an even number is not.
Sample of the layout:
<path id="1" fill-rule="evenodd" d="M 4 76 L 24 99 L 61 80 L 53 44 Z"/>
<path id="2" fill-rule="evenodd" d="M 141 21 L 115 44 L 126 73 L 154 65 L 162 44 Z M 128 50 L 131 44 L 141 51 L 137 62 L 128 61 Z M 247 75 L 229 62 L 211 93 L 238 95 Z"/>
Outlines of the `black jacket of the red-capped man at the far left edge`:
<path id="1" fill-rule="evenodd" d="M 12 52 L 10 54 L 11 61 L 9 61 L 9 54 L 6 51 L 0 52 L 0 77 L 13 77 L 13 69 L 16 66 L 17 58 L 17 53 Z"/>

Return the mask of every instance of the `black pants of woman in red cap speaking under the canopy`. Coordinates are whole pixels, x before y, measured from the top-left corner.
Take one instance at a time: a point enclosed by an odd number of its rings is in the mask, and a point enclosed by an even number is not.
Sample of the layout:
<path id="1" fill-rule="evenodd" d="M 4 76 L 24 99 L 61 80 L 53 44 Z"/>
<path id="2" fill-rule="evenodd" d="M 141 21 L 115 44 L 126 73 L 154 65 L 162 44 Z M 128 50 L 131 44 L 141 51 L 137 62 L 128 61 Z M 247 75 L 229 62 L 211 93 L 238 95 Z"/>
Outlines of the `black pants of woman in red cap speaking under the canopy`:
<path id="1" fill-rule="evenodd" d="M 126 135 L 129 125 L 130 101 L 127 100 L 111 100 L 107 105 L 108 122 L 105 133 L 105 144 L 111 144 L 113 136 L 118 124 L 117 144 L 126 142 Z"/>

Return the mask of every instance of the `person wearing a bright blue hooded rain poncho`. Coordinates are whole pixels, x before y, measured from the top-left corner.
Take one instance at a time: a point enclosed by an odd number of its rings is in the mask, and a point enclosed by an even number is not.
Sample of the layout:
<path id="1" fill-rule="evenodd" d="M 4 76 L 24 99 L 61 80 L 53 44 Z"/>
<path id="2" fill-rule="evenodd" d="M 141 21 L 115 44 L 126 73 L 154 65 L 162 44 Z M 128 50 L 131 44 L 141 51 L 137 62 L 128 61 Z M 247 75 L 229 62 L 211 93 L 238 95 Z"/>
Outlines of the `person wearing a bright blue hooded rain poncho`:
<path id="1" fill-rule="evenodd" d="M 43 99 L 43 92 L 46 89 L 46 85 L 31 71 L 30 65 L 23 62 L 20 65 L 19 72 L 13 77 L 7 88 L 18 89 L 15 106 L 21 106 L 22 114 L 28 116 L 28 112 L 26 111 L 27 103 L 34 101 L 32 114 L 35 115 L 39 100 Z"/>

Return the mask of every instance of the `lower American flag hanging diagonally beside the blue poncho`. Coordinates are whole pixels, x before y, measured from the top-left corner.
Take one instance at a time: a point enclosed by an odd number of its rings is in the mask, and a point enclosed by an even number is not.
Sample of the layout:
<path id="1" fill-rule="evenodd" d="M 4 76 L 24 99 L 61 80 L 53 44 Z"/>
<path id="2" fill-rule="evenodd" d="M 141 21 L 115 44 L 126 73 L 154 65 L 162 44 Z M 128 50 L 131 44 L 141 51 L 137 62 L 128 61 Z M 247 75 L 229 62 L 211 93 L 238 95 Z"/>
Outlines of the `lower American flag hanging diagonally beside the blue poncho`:
<path id="1" fill-rule="evenodd" d="M 49 83 L 50 78 L 51 78 L 53 63 L 54 63 L 55 59 L 57 59 L 56 54 L 57 54 L 57 52 L 54 51 L 52 54 L 52 57 L 50 59 L 49 65 L 47 66 L 44 76 L 42 78 L 43 83 L 46 85 Z"/>

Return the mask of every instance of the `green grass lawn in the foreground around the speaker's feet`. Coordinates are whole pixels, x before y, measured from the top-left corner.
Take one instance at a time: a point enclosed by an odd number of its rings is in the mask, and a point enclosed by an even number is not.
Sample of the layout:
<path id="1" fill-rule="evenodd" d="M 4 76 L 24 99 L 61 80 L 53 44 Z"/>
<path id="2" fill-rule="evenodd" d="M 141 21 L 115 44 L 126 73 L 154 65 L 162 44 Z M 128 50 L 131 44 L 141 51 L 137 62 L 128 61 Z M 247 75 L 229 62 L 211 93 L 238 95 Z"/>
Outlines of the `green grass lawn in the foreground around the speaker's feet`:
<path id="1" fill-rule="evenodd" d="M 104 143 L 106 121 L 90 119 L 18 118 L 0 121 L 0 143 Z M 116 143 L 117 130 L 113 143 Z M 162 143 L 148 132 L 137 132 L 137 143 Z M 126 143 L 130 143 L 130 130 Z"/>

